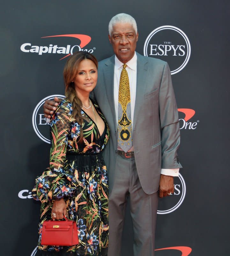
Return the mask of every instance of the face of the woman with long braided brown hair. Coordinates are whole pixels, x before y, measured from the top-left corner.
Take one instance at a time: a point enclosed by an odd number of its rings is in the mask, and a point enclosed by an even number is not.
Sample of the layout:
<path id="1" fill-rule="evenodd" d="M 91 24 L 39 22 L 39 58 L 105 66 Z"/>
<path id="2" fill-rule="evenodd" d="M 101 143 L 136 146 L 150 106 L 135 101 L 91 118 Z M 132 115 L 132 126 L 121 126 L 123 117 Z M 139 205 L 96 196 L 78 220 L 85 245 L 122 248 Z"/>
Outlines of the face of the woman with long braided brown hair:
<path id="1" fill-rule="evenodd" d="M 97 67 L 92 60 L 86 59 L 80 62 L 73 82 L 77 93 L 85 94 L 93 91 L 97 84 Z"/>

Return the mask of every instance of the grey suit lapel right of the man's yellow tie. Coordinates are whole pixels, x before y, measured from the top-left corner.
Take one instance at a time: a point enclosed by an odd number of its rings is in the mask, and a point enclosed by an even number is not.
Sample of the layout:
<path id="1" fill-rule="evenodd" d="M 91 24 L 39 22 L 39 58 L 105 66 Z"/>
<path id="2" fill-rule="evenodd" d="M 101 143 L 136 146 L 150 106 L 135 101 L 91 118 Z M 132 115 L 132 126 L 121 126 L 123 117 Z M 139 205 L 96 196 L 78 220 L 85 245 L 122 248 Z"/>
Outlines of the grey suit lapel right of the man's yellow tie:
<path id="1" fill-rule="evenodd" d="M 135 128 L 139 109 L 141 107 L 142 101 L 144 100 L 144 93 L 146 88 L 146 81 L 149 73 L 148 61 L 142 55 L 137 53 L 137 90 L 136 90 L 136 101 L 134 109 L 134 120 L 133 129 Z"/>

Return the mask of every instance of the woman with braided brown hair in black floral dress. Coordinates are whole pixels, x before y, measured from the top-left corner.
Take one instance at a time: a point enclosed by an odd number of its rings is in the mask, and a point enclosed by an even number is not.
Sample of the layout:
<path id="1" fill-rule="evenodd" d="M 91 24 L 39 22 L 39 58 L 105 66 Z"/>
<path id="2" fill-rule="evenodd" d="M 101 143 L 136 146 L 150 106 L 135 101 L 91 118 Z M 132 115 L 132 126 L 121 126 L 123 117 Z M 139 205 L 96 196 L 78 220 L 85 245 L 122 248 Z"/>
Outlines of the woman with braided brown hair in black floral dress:
<path id="1" fill-rule="evenodd" d="M 33 198 L 41 201 L 38 255 L 107 254 L 108 176 L 102 150 L 109 128 L 89 93 L 97 83 L 98 63 L 88 52 L 76 52 L 64 68 L 66 98 L 50 122 L 50 167 L 36 179 Z M 79 244 L 41 245 L 45 220 L 66 215 L 78 228 Z M 36 254 L 36 255 L 37 255 Z"/>

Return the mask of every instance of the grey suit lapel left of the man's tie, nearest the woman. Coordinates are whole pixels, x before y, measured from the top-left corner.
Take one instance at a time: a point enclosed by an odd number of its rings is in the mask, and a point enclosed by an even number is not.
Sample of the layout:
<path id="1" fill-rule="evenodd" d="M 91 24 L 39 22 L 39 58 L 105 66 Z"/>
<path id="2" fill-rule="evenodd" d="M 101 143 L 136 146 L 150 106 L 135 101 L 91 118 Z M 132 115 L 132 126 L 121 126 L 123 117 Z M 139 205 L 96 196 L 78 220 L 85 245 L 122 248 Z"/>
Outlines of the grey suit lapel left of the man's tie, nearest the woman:
<path id="1" fill-rule="evenodd" d="M 114 104 L 114 58 L 115 56 L 113 55 L 111 58 L 109 58 L 105 62 L 103 75 L 105 79 L 105 90 L 106 90 L 109 106 L 112 112 L 112 116 L 110 118 L 113 118 L 113 123 L 117 128 L 116 112 L 115 112 L 115 104 Z"/>

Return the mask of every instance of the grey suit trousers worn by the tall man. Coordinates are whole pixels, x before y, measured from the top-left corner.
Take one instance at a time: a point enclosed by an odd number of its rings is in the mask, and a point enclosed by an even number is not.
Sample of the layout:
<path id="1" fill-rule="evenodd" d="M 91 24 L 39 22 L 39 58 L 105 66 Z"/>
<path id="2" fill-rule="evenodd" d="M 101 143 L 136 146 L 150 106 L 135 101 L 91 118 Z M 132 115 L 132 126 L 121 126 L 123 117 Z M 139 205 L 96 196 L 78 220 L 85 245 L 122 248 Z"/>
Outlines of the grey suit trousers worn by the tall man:
<path id="1" fill-rule="evenodd" d="M 130 194 L 133 223 L 134 256 L 154 256 L 158 192 L 148 195 L 143 191 L 134 158 L 117 156 L 114 177 L 114 186 L 109 195 L 108 256 L 121 255 L 122 230 L 128 194 Z"/>

